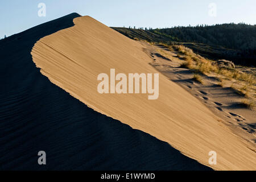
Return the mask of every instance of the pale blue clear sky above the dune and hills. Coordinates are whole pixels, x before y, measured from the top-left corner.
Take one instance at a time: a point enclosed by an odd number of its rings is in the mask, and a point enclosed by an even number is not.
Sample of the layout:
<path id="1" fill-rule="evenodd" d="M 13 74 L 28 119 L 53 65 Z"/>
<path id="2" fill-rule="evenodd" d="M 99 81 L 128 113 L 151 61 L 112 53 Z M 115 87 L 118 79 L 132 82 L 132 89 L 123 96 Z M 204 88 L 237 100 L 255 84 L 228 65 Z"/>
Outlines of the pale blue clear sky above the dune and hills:
<path id="1" fill-rule="evenodd" d="M 46 4 L 45 17 L 38 16 L 39 3 Z M 216 16 L 209 15 L 210 3 L 216 5 Z M 0 38 L 74 12 L 113 27 L 256 24 L 255 7 L 255 0 L 7 0 L 0 6 Z"/>

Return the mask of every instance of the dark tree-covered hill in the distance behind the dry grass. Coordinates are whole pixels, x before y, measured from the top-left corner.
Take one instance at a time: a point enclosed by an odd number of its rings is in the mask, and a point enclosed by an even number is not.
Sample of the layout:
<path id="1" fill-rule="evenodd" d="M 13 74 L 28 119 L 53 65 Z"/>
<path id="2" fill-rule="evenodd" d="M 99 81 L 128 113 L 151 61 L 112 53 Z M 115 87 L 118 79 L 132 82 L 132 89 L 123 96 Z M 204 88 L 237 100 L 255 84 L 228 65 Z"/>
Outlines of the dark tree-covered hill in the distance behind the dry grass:
<path id="1" fill-rule="evenodd" d="M 229 59 L 236 64 L 256 65 L 256 26 L 216 24 L 215 26 L 173 27 L 154 30 L 114 28 L 129 38 L 148 42 L 184 44 L 210 59 Z"/>

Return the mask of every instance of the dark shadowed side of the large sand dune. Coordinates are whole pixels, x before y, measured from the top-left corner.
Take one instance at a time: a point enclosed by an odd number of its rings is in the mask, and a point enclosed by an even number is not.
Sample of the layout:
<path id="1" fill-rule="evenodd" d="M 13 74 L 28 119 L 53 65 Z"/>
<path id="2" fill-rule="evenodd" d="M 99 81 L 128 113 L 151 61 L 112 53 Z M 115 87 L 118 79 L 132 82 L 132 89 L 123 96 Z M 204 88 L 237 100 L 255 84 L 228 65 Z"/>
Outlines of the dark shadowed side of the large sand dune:
<path id="1" fill-rule="evenodd" d="M 31 57 L 36 41 L 72 27 L 79 16 L 0 41 L 0 169 L 209 170 L 168 143 L 90 109 L 40 73 Z M 46 166 L 38 165 L 41 150 Z"/>

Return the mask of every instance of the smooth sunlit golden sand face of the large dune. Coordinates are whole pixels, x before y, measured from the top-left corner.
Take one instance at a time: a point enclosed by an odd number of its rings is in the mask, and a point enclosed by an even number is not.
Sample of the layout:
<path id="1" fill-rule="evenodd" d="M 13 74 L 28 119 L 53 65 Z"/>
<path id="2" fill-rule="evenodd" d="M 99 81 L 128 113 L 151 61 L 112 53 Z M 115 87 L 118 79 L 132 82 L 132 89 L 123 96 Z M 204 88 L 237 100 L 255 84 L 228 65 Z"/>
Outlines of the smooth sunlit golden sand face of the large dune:
<path id="1" fill-rule="evenodd" d="M 168 142 L 190 158 L 213 169 L 256 169 L 256 154 L 205 105 L 159 74 L 159 98 L 146 94 L 100 94 L 97 76 L 116 73 L 158 73 L 143 46 L 89 16 L 75 26 L 40 39 L 32 58 L 43 75 L 92 109 Z"/>

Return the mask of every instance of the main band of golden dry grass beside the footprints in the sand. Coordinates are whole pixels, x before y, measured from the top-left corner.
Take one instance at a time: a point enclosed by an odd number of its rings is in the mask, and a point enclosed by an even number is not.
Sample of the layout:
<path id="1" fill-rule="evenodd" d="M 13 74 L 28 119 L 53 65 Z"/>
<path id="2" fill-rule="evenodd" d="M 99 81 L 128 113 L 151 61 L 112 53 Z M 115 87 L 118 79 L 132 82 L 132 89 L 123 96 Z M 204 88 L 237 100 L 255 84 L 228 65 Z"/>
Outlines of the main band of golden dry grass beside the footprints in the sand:
<path id="1" fill-rule="evenodd" d="M 180 67 L 191 69 L 191 71 L 195 73 L 193 76 L 193 80 L 204 84 L 201 75 L 215 73 L 216 77 L 219 80 L 218 85 L 223 87 L 224 80 L 237 82 L 237 86 L 234 86 L 232 84 L 231 88 L 241 96 L 245 98 L 250 98 L 249 88 L 250 86 L 255 85 L 255 76 L 253 74 L 238 71 L 236 68 L 218 67 L 216 61 L 205 59 L 204 57 L 197 55 L 191 49 L 184 46 L 172 46 L 172 49 L 177 51 L 178 55 L 182 57 L 182 59 L 184 59 Z"/>

